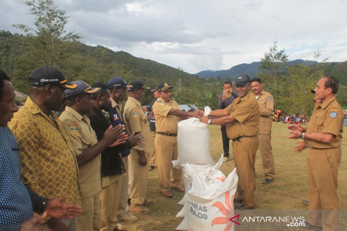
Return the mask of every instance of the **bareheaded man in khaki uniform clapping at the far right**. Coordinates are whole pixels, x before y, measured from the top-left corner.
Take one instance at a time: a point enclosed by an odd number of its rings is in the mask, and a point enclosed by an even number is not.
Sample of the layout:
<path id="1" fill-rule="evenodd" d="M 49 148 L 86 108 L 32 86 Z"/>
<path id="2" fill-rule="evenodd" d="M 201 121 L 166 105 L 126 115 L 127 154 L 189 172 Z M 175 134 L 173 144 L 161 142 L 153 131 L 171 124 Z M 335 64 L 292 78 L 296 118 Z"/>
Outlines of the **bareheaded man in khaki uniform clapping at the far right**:
<path id="1" fill-rule="evenodd" d="M 302 138 L 294 148 L 301 152 L 309 147 L 307 154 L 308 222 L 305 228 L 338 230 L 339 199 L 337 175 L 341 161 L 343 112 L 335 94 L 339 81 L 332 75 L 324 75 L 316 85 L 315 104 L 307 128 L 288 126 L 288 138 Z"/>

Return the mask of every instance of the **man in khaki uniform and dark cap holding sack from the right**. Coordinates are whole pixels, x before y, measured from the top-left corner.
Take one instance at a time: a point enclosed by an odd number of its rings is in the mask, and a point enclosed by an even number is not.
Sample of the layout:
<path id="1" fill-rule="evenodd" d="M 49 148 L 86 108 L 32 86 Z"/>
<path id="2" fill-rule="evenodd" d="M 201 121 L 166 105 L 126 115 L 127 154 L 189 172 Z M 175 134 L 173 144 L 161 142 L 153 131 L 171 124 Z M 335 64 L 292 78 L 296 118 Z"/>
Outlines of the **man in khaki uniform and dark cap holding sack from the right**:
<path id="1" fill-rule="evenodd" d="M 202 115 L 201 122 L 206 124 L 227 125 L 227 135 L 232 140 L 235 167 L 239 180 L 238 197 L 234 201 L 242 202 L 236 209 L 255 207 L 255 153 L 259 141 L 259 105 L 251 91 L 250 79 L 246 74 L 239 74 L 235 81 L 238 97 L 225 109 L 211 111 L 210 119 Z"/>

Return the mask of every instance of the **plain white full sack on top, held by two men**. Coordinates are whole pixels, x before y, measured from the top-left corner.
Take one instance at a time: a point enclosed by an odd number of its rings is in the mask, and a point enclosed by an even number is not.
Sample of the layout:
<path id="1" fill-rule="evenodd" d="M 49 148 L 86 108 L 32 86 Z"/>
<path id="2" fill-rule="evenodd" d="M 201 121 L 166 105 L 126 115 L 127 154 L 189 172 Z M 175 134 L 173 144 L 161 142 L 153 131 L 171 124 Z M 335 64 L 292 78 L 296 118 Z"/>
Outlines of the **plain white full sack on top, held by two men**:
<path id="1" fill-rule="evenodd" d="M 210 154 L 210 131 L 207 124 L 198 118 L 185 119 L 178 123 L 178 158 L 172 161 L 175 168 L 185 163 L 213 165 Z"/>

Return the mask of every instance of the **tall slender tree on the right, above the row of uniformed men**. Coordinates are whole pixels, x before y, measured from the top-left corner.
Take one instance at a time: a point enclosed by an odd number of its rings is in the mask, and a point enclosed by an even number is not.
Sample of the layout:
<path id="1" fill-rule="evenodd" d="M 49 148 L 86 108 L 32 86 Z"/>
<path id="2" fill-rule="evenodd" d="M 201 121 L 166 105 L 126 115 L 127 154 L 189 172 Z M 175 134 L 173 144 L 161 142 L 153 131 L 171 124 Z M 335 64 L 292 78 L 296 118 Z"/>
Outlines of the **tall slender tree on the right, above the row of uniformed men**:
<path id="1" fill-rule="evenodd" d="M 288 55 L 283 48 L 278 51 L 277 39 L 269 47 L 269 51 L 266 51 L 264 57 L 261 58 L 259 74 L 261 78 L 268 80 L 272 84 L 272 93 L 274 94 L 275 110 L 277 109 L 277 86 L 278 80 L 285 73 L 284 64 L 288 62 Z"/>

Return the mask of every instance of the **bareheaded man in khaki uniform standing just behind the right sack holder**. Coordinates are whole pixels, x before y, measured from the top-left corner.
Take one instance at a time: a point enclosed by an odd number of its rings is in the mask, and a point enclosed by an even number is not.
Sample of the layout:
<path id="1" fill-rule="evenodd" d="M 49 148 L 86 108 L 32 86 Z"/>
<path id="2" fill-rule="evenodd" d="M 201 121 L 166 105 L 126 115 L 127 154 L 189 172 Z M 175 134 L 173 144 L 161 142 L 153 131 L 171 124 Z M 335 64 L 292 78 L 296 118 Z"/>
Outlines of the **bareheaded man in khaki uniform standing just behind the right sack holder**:
<path id="1" fill-rule="evenodd" d="M 263 184 L 267 185 L 271 184 L 275 177 L 275 163 L 271 146 L 271 116 L 273 113 L 274 101 L 272 95 L 263 90 L 261 79 L 252 79 L 251 88 L 260 108 L 258 139 L 261 159 L 263 161 L 263 169 L 265 172 L 265 180 Z"/>

